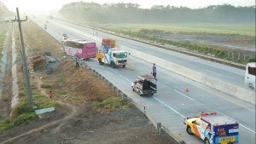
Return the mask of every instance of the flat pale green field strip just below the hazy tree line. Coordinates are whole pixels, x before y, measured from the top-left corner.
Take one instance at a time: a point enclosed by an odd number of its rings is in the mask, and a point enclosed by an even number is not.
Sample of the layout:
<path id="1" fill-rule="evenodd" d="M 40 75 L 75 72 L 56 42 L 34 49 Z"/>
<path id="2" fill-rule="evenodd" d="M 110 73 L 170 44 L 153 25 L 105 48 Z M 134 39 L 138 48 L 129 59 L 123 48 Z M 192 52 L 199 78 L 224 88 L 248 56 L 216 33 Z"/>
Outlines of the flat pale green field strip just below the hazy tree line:
<path id="1" fill-rule="evenodd" d="M 104 24 L 102 27 L 114 30 L 138 32 L 141 29 L 161 30 L 166 32 L 200 32 L 216 34 L 239 34 L 255 36 L 255 23 L 172 23 L 172 24 Z"/>

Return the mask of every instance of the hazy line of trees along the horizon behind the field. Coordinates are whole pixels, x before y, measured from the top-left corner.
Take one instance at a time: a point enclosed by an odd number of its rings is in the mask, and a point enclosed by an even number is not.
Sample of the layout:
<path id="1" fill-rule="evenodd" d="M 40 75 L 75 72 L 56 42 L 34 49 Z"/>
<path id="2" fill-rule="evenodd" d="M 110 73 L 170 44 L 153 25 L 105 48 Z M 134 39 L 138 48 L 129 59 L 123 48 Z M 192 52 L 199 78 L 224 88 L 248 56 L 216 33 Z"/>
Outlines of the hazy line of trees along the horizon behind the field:
<path id="1" fill-rule="evenodd" d="M 67 18 L 97 22 L 170 23 L 170 22 L 255 22 L 255 5 L 235 7 L 230 4 L 206 8 L 154 5 L 141 9 L 137 3 L 74 2 L 59 10 Z"/>

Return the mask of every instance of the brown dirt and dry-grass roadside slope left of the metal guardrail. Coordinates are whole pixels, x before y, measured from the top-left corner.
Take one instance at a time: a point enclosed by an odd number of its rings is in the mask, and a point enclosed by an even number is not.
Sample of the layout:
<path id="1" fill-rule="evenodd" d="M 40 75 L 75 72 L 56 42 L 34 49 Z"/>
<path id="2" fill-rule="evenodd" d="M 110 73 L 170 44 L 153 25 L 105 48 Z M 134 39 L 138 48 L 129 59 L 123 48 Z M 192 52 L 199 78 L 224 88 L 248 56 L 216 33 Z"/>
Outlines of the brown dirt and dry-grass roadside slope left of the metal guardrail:
<path id="1" fill-rule="evenodd" d="M 125 106 L 107 84 L 86 68 L 76 68 L 72 59 L 63 58 L 61 45 L 31 21 L 24 23 L 28 55 L 50 51 L 60 66 L 46 74 L 44 66 L 31 76 L 32 89 L 63 105 L 55 112 L 0 134 L 3 143 L 172 143 L 166 135 L 158 136 L 143 113 Z M 105 107 L 97 105 L 101 103 Z M 0 142 L 1 143 L 1 142 Z"/>

